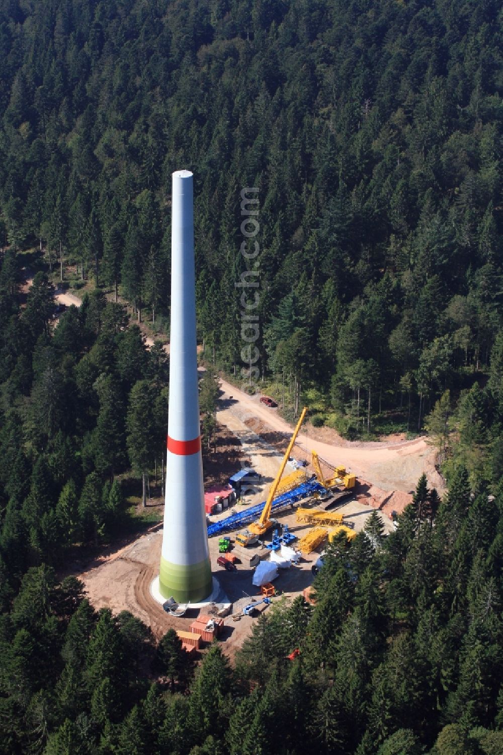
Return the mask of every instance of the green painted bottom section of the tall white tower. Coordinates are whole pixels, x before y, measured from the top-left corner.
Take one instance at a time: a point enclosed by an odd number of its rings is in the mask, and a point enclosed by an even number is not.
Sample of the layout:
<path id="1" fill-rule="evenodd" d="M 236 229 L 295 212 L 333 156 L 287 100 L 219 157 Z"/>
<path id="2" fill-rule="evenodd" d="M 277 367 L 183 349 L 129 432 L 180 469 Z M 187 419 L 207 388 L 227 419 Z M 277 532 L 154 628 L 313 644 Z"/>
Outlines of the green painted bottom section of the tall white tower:
<path id="1" fill-rule="evenodd" d="M 166 561 L 161 556 L 159 569 L 159 592 L 163 598 L 178 603 L 197 603 L 211 595 L 213 581 L 209 559 L 198 564 L 181 566 Z"/>

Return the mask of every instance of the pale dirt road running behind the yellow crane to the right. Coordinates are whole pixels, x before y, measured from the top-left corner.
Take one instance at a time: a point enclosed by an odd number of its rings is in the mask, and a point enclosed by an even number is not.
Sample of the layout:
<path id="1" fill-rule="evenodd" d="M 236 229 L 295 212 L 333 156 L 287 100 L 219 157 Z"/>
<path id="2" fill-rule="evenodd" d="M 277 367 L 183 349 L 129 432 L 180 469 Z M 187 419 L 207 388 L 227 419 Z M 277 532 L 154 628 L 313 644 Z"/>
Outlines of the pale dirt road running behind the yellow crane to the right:
<path id="1" fill-rule="evenodd" d="M 261 404 L 259 396 L 248 396 L 224 380 L 221 380 L 221 390 L 222 410 L 218 411 L 217 419 L 222 424 L 232 423 L 233 427 L 230 429 L 234 433 L 238 428 L 243 433 L 246 430 L 250 433 L 255 420 L 257 429 L 266 426 L 276 433 L 292 436 L 292 427 L 275 409 Z M 261 434 L 265 434 L 267 439 L 267 433 L 261 430 Z M 434 448 L 424 438 L 399 442 L 348 442 L 340 439 L 339 442 L 326 443 L 301 433 L 297 440 L 307 458 L 310 451 L 314 450 L 333 466 L 344 465 L 359 479 L 384 491 L 410 493 L 414 491 L 423 472 L 430 485 L 439 490 L 443 488 L 442 479 L 435 469 Z M 298 458 L 301 458 L 302 448 L 296 449 Z M 275 455 L 277 456 L 276 452 Z M 266 471 L 268 473 L 269 470 Z"/>

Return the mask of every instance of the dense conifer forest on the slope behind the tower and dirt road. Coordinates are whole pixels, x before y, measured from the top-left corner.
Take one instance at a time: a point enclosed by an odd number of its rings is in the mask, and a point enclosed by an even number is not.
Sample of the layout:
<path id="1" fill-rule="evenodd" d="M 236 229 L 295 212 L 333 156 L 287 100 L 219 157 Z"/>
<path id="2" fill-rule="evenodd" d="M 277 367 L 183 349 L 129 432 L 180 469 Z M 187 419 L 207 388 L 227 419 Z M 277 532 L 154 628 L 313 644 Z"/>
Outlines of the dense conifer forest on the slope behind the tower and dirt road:
<path id="1" fill-rule="evenodd" d="M 489 365 L 496 2 L 10 0 L 0 14 L 11 244 L 61 245 L 82 277 L 168 313 L 170 174 L 190 168 L 200 337 L 224 368 L 242 349 L 244 186 L 259 190 L 269 374 L 342 414 L 361 389 L 404 419 L 412 396 L 411 430 Z M 338 429 L 361 433 L 360 416 Z"/>

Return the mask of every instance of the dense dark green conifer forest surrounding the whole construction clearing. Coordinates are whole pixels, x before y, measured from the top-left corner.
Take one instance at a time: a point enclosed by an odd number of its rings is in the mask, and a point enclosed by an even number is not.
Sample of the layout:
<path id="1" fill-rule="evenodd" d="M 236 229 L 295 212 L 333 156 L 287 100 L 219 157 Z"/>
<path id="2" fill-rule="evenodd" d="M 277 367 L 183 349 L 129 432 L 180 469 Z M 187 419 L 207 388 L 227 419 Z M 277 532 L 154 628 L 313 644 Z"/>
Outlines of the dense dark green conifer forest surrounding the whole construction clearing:
<path id="1" fill-rule="evenodd" d="M 495 0 L 0 0 L 2 755 L 501 755 L 502 42 Z M 58 576 L 161 463 L 168 360 L 128 308 L 168 324 L 179 168 L 218 367 L 252 186 L 271 390 L 426 430 L 448 487 L 196 668 Z"/>

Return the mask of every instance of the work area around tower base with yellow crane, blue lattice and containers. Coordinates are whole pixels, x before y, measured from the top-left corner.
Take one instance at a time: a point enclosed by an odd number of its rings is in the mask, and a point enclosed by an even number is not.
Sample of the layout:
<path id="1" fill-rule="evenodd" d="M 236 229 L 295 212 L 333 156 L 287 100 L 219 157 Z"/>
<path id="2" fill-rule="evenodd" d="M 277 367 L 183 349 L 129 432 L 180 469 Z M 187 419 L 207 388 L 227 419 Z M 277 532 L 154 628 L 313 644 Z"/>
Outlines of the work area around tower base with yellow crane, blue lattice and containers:
<path id="1" fill-rule="evenodd" d="M 372 498 L 355 500 L 365 496 L 369 486 L 356 480 L 350 470 L 333 466 L 316 453 L 312 464 L 304 461 L 304 468 L 288 469 L 306 411 L 304 408 L 272 484 L 268 484 L 270 477 L 264 477 L 259 486 L 260 504 L 243 507 L 233 495 L 226 495 L 224 481 L 224 487 L 207 491 L 214 602 L 205 602 L 200 608 L 190 603 L 164 608 L 153 596 L 151 584 L 159 574 L 162 547 L 162 529 L 154 525 L 134 543 L 98 557 L 87 568 L 73 570 L 94 608 L 107 607 L 113 613 L 128 610 L 147 624 L 157 639 L 173 627 L 190 653 L 200 652 L 218 639 L 226 655 L 233 657 L 251 633 L 256 617 L 271 609 L 276 596 L 310 596 L 313 565 L 326 541 L 341 533 L 348 540 L 355 537 L 376 507 Z M 260 445 L 261 439 L 257 437 L 255 442 Z M 260 467 L 257 471 L 262 474 Z M 379 516 L 384 532 L 390 532 L 393 522 L 381 512 Z M 260 581 L 258 572 L 270 573 L 270 577 Z"/>

